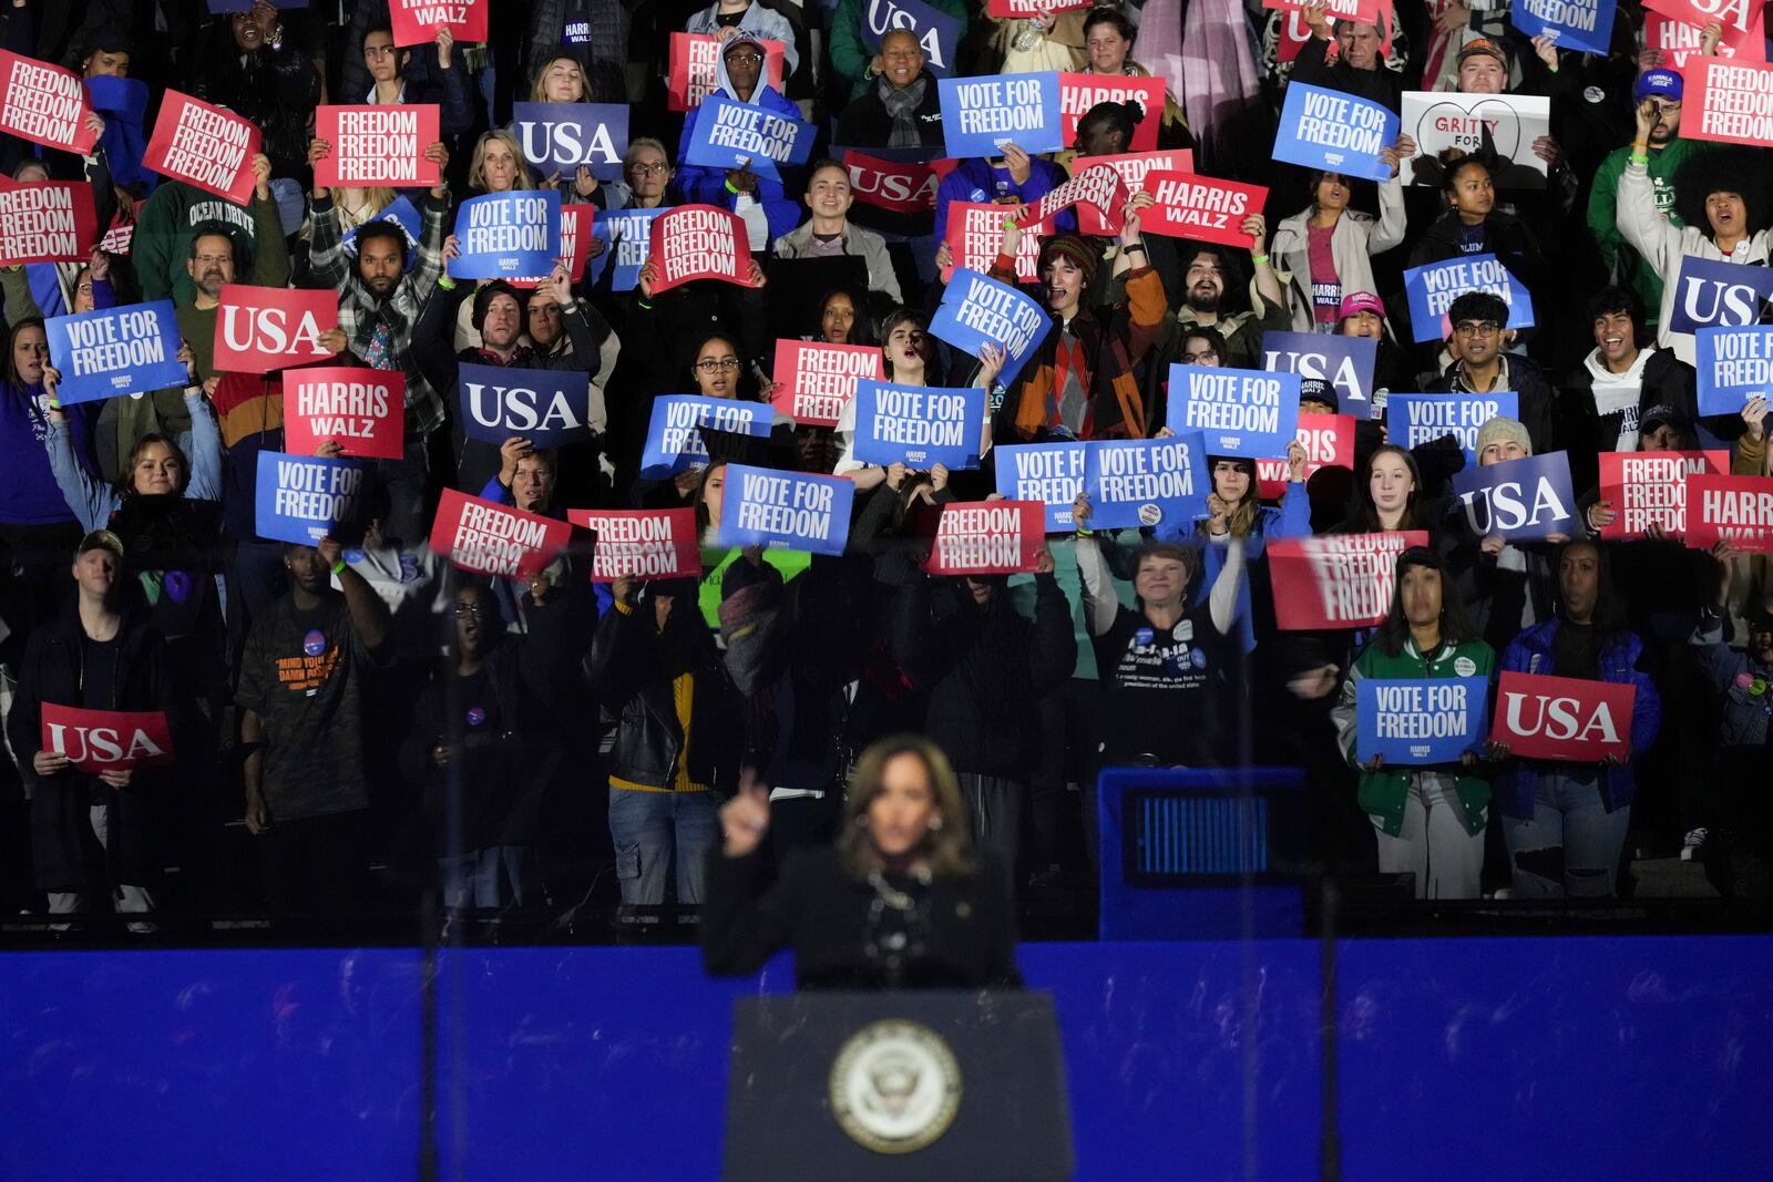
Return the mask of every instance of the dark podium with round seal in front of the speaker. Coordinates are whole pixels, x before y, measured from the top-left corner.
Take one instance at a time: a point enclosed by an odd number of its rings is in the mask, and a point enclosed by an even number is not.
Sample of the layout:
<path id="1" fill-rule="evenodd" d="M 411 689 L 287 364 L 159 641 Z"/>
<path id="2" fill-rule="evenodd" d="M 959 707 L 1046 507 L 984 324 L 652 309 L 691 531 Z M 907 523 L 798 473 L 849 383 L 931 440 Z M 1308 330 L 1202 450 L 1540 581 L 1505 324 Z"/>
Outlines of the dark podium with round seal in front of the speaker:
<path id="1" fill-rule="evenodd" d="M 732 1007 L 732 1182 L 1057 1182 L 1073 1168 L 1046 992 L 801 992 Z"/>

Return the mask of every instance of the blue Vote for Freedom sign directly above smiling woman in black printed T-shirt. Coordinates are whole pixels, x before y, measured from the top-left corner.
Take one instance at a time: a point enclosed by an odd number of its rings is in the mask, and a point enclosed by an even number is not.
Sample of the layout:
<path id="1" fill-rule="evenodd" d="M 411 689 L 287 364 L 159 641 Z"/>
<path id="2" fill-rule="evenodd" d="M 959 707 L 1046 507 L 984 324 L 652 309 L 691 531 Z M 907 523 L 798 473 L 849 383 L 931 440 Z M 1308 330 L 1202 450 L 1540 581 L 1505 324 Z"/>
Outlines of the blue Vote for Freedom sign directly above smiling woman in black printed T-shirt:
<path id="1" fill-rule="evenodd" d="M 1183 526 L 1207 516 L 1206 447 L 1200 432 L 1172 439 L 1096 439 L 1083 452 L 1090 528 Z"/>

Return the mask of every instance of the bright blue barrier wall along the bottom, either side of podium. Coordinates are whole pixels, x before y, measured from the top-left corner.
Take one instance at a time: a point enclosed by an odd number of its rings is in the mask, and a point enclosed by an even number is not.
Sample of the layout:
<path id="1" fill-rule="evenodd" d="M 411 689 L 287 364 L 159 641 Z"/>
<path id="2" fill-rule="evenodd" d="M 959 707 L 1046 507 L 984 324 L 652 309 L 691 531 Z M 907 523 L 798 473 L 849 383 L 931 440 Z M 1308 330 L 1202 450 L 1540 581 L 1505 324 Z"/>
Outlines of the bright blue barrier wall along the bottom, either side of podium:
<path id="1" fill-rule="evenodd" d="M 1078 1178 L 1317 1177 L 1317 945 L 1019 957 L 1058 1005 Z M 1342 943 L 1342 1177 L 1762 1177 L 1769 962 L 1773 937 Z M 0 1178 L 418 1177 L 420 964 L 0 955 Z M 493 948 L 441 982 L 438 1177 L 677 1180 L 720 1171 L 732 999 L 791 975 Z"/>

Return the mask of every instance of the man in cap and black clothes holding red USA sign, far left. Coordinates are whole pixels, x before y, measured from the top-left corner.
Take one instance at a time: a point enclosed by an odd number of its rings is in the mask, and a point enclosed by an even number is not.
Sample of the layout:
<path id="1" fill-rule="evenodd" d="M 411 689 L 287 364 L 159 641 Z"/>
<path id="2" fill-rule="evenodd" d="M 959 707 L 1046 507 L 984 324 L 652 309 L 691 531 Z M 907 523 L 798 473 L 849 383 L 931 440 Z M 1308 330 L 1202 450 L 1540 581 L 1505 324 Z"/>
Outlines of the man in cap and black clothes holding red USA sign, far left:
<path id="1" fill-rule="evenodd" d="M 122 555 L 110 530 L 89 533 L 74 549 L 76 610 L 32 629 L 7 712 L 7 739 L 30 789 L 35 884 L 50 893 L 50 914 L 94 911 L 105 895 L 124 914 L 154 911 L 163 819 L 151 773 L 80 773 L 67 753 L 96 735 L 66 734 L 57 748 L 44 743 L 43 727 L 46 704 L 177 718 L 167 645 L 144 613 L 126 606 Z"/>

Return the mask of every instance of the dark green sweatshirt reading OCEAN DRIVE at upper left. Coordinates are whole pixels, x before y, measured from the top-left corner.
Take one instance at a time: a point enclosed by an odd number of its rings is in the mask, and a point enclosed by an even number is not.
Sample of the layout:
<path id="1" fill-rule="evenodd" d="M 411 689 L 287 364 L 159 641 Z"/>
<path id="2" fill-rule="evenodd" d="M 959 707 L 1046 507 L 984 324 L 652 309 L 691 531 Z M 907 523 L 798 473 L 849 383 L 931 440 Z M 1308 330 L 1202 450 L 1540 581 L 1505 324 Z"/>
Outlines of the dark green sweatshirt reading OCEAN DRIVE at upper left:
<path id="1" fill-rule="evenodd" d="M 236 206 L 193 184 L 163 181 L 142 206 L 129 248 L 144 303 L 172 299 L 186 305 L 197 298 L 184 264 L 191 257 L 191 230 L 211 222 L 225 225 L 234 239 L 236 284 L 289 285 L 289 241 L 275 200 L 255 195 L 250 206 Z M 259 243 L 269 248 L 259 250 Z"/>

